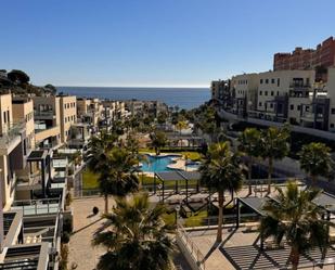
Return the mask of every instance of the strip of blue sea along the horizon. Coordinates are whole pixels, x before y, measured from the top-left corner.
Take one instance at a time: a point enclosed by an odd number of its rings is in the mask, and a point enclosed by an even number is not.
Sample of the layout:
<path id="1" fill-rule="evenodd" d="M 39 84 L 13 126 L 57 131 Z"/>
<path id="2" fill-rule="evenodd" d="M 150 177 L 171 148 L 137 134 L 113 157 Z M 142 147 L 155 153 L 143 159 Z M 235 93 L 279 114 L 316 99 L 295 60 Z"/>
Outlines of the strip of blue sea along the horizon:
<path id="1" fill-rule="evenodd" d="M 168 106 L 191 110 L 209 101 L 209 88 L 57 87 L 57 92 L 81 98 L 162 101 Z"/>

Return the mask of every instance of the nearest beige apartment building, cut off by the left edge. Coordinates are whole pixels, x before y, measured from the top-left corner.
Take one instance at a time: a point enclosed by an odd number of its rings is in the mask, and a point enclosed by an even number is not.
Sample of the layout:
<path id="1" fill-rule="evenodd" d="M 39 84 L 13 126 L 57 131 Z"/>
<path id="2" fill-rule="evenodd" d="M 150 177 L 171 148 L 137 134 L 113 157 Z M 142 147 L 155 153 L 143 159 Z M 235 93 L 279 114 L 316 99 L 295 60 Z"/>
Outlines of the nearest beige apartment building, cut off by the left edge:
<path id="1" fill-rule="evenodd" d="M 14 99 L 12 104 L 11 93 L 0 95 L 0 179 L 4 209 L 14 200 L 17 176 L 25 170 L 26 158 L 34 147 L 31 125 L 30 100 Z"/>

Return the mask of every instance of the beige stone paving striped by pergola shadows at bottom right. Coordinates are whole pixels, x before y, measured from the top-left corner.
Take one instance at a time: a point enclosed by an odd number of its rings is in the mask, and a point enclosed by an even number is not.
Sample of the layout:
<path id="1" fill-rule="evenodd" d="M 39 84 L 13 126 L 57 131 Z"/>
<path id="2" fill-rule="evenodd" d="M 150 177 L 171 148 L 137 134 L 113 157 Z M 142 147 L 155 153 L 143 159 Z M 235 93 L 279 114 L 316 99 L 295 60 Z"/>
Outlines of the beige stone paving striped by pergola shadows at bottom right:
<path id="1" fill-rule="evenodd" d="M 258 233 L 239 230 L 224 229 L 223 241 L 216 244 L 216 230 L 192 231 L 189 233 L 193 243 L 198 247 L 205 257 L 206 270 L 245 270 L 245 269 L 286 269 L 289 255 L 289 247 L 259 249 Z M 331 247 L 326 255 L 327 261 L 334 262 L 335 249 Z M 312 261 L 320 261 L 319 249 L 301 256 L 300 268 L 302 269 L 335 269 L 334 263 L 322 268 L 312 267 Z M 289 269 L 289 268 L 288 268 Z"/>

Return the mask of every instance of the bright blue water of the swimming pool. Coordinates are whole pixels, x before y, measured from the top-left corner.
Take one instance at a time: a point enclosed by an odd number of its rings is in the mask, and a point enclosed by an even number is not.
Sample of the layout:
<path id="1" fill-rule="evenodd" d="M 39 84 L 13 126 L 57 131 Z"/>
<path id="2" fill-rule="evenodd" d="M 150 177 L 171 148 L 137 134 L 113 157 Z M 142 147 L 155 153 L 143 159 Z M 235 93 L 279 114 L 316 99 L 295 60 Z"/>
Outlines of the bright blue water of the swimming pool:
<path id="1" fill-rule="evenodd" d="M 180 157 L 178 155 L 167 155 L 167 156 L 151 156 L 146 155 L 146 160 L 142 162 L 142 171 L 146 172 L 160 172 L 160 171 L 170 171 L 167 166 L 172 164 L 172 158 Z"/>

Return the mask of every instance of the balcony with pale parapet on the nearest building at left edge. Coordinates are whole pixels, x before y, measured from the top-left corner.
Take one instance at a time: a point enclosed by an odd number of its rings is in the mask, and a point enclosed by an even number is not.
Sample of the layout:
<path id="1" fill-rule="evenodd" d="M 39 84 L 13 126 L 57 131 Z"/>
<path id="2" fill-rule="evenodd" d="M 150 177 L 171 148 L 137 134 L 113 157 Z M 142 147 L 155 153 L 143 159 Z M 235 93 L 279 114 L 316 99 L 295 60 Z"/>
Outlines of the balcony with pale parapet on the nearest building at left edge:
<path id="1" fill-rule="evenodd" d="M 22 133 L 26 128 L 25 123 L 10 123 L 3 125 L 0 136 L 0 155 L 8 155 L 11 153 L 22 141 Z"/>

